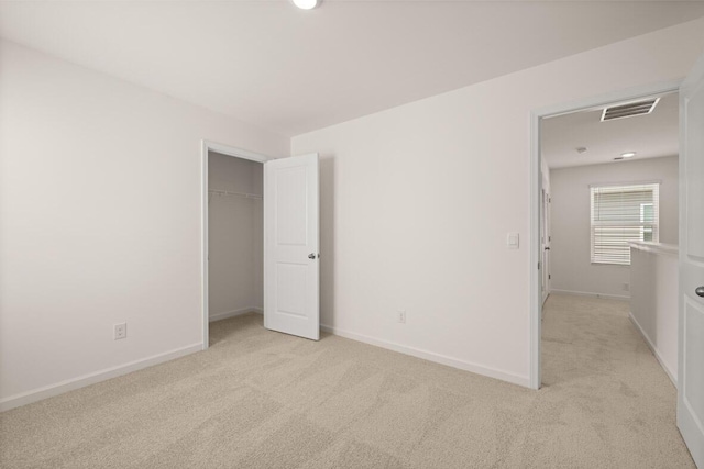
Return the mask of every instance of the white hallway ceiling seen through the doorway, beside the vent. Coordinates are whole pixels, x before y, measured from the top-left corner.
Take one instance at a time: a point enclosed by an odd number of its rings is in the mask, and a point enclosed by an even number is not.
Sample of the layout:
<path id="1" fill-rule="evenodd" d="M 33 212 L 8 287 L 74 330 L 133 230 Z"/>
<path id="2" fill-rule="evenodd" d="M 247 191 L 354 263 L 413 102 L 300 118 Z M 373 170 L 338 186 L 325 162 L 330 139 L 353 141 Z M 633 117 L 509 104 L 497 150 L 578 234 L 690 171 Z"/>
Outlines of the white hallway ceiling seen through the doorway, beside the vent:
<path id="1" fill-rule="evenodd" d="M 602 110 L 574 112 L 542 121 L 541 155 L 548 167 L 618 163 L 614 158 L 636 152 L 642 158 L 679 153 L 678 93 L 663 96 L 650 114 L 601 122 Z M 576 148 L 586 147 L 579 154 Z"/>

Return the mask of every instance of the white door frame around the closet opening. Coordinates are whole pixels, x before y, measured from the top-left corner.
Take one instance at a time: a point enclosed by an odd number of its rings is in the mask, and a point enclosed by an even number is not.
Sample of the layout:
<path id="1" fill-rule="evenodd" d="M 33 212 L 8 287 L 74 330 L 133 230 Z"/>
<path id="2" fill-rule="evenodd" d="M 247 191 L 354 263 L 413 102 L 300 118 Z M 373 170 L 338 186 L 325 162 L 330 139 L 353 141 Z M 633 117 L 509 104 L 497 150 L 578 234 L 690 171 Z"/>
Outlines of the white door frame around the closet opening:
<path id="1" fill-rule="evenodd" d="M 201 187 L 201 220 L 200 220 L 200 295 L 202 299 L 201 319 L 202 319 L 202 349 L 206 350 L 210 346 L 210 311 L 208 298 L 208 155 L 216 152 L 221 155 L 232 156 L 234 158 L 249 159 L 264 164 L 271 158 L 255 152 L 238 148 L 230 145 L 202 139 L 200 141 L 200 187 Z"/>

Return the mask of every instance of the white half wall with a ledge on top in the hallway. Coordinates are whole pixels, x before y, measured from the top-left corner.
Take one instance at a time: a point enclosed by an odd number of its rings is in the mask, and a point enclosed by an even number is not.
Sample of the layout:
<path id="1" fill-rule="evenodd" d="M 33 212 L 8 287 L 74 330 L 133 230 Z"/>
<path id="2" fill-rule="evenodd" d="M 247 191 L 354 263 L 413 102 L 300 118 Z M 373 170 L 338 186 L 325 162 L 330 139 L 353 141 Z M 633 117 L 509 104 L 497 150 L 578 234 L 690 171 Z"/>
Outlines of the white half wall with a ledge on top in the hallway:
<path id="1" fill-rule="evenodd" d="M 674 386 L 678 382 L 678 248 L 634 244 L 630 249 L 630 319 Z"/>

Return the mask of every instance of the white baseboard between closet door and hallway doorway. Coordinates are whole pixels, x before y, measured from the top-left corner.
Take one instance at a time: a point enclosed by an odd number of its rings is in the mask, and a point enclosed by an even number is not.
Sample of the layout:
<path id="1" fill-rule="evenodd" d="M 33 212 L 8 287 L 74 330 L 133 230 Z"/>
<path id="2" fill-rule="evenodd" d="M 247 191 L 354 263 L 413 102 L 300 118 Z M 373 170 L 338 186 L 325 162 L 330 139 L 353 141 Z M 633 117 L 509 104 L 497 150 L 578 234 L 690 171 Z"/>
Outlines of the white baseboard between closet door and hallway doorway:
<path id="1" fill-rule="evenodd" d="M 350 338 L 352 340 L 362 342 L 364 344 L 374 345 L 376 347 L 386 348 L 388 350 L 398 351 L 402 354 L 410 355 L 417 358 L 422 358 L 428 361 L 435 361 L 437 364 L 447 365 L 449 367 L 459 368 L 464 371 L 471 371 L 473 373 L 483 375 L 490 378 L 495 378 L 502 381 L 508 381 L 514 384 L 530 387 L 530 378 L 514 375 L 508 371 L 498 370 L 496 368 L 488 368 L 469 361 L 458 360 L 457 358 L 448 357 L 444 355 L 436 354 L 433 351 L 421 350 L 415 347 L 408 347 L 400 344 L 394 344 L 392 342 L 383 340 L 381 338 L 374 338 L 362 334 L 356 334 L 348 331 L 343 331 L 339 327 L 331 327 L 324 324 L 320 324 L 320 328 L 340 337 Z"/>

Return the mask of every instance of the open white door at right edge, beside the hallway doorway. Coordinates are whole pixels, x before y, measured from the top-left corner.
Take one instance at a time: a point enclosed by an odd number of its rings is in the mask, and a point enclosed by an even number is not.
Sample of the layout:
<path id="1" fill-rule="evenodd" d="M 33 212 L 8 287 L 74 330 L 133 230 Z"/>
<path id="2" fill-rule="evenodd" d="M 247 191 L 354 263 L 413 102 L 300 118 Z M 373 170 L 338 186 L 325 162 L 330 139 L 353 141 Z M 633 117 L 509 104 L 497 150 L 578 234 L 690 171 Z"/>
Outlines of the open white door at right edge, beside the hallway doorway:
<path id="1" fill-rule="evenodd" d="M 704 56 L 680 89 L 678 427 L 704 468 Z"/>

